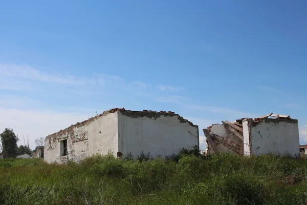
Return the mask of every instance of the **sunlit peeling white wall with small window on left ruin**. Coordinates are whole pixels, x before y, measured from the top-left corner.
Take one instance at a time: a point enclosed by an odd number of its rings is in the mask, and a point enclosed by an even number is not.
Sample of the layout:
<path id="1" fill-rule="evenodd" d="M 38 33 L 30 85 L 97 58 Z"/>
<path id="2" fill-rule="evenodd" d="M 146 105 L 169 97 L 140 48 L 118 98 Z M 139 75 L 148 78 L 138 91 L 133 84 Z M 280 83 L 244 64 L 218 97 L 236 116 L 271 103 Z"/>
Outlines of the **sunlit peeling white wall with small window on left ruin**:
<path id="1" fill-rule="evenodd" d="M 85 122 L 84 125 L 74 125 L 73 131 L 67 129 L 52 134 L 45 139 L 44 160 L 48 163 L 63 163 L 67 160 L 79 161 L 93 154 L 107 154 L 108 151 L 118 151 L 117 113 L 108 113 Z M 68 155 L 60 156 L 60 140 L 67 139 Z"/>

